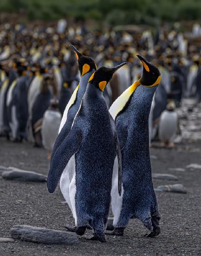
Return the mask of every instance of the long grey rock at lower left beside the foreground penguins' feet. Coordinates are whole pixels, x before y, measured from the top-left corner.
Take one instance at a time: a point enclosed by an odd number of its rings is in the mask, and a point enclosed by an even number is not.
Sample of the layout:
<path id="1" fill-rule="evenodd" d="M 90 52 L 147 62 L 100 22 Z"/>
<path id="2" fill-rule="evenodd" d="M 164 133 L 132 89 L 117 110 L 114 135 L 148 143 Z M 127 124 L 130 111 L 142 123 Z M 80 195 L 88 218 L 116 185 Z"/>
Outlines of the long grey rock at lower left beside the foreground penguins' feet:
<path id="1" fill-rule="evenodd" d="M 28 225 L 14 225 L 11 236 L 16 239 L 33 243 L 45 244 L 74 244 L 78 243 L 78 236 L 74 232 L 45 229 Z"/>

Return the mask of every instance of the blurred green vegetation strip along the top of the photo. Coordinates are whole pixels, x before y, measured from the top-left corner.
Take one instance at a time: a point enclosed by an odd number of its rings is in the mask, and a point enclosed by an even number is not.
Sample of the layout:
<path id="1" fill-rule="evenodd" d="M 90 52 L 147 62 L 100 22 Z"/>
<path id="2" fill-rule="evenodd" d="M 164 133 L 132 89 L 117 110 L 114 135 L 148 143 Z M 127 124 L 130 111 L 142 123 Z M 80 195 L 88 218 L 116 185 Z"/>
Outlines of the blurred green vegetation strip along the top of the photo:
<path id="1" fill-rule="evenodd" d="M 0 12 L 24 10 L 29 20 L 98 20 L 111 25 L 200 20 L 201 0 L 0 0 Z"/>

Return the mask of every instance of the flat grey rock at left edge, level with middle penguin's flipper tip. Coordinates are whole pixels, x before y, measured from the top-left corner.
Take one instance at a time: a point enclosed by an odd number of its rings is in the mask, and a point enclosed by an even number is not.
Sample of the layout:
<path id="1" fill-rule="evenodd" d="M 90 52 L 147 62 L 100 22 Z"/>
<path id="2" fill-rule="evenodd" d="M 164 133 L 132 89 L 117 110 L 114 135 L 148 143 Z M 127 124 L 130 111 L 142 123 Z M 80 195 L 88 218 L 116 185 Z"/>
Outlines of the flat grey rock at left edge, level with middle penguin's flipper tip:
<path id="1" fill-rule="evenodd" d="M 2 173 L 2 177 L 6 180 L 15 180 L 23 182 L 46 182 L 45 175 L 11 167 L 9 167 L 7 171 L 4 171 Z"/>

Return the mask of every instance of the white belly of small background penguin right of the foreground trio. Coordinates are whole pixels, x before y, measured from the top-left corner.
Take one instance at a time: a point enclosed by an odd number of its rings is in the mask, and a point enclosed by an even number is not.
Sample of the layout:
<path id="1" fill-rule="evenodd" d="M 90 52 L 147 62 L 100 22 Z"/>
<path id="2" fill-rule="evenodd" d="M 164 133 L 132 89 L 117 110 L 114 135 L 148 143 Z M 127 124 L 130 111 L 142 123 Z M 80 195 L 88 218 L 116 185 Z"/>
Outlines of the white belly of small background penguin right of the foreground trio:
<path id="1" fill-rule="evenodd" d="M 158 135 L 162 142 L 170 142 L 174 139 L 177 131 L 177 114 L 164 110 L 159 121 Z"/>

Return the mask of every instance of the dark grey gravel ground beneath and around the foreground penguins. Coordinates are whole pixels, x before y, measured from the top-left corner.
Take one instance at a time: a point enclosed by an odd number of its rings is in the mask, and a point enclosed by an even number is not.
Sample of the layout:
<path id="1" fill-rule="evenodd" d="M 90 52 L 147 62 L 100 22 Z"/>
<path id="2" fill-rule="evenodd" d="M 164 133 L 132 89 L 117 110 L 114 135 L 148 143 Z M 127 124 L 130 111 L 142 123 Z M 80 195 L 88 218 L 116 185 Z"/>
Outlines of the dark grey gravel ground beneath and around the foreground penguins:
<path id="1" fill-rule="evenodd" d="M 154 187 L 182 183 L 188 193 L 157 192 L 161 213 L 161 234 L 145 238 L 143 224 L 132 219 L 123 237 L 106 236 L 106 243 L 89 241 L 92 231 L 75 245 L 44 245 L 15 241 L 0 243 L 0 256 L 56 255 L 201 255 L 201 169 L 185 168 L 201 164 L 201 142 L 182 143 L 174 149 L 151 148 L 152 172 L 177 175 L 179 181 L 154 180 Z M 156 158 L 155 157 L 155 158 Z M 24 142 L 15 144 L 0 138 L 0 165 L 13 166 L 47 175 L 49 162 L 44 149 Z M 185 168 L 173 171 L 169 168 Z M 45 183 L 6 181 L 0 177 L 0 237 L 10 237 L 15 224 L 65 230 L 73 224 L 70 209 L 59 189 L 47 192 Z"/>

